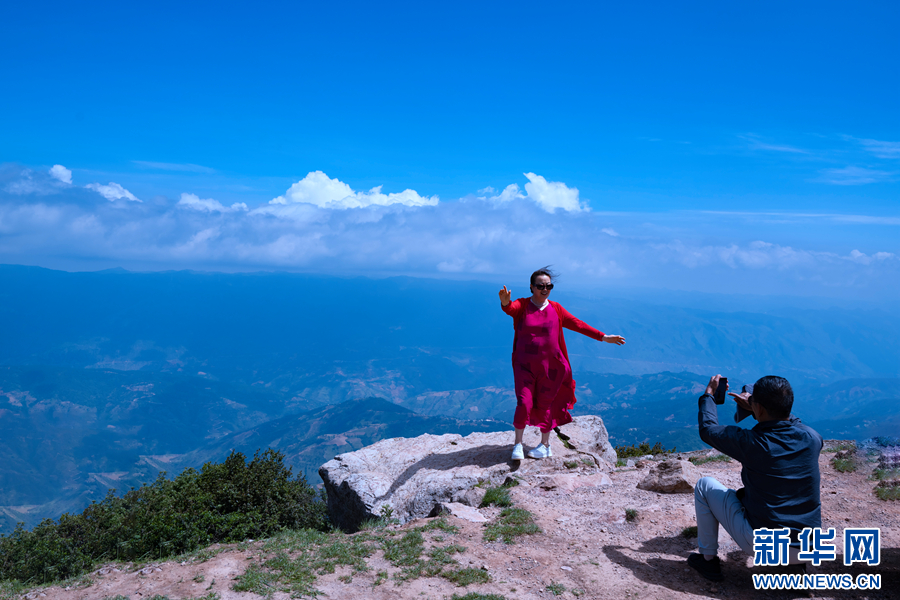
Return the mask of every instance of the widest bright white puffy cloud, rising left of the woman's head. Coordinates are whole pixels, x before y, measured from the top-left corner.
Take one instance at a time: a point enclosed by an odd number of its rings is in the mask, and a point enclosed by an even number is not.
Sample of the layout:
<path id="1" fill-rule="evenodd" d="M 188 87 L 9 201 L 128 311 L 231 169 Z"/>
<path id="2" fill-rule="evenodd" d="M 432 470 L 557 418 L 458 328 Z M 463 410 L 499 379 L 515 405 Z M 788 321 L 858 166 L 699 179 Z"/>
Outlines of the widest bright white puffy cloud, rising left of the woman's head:
<path id="1" fill-rule="evenodd" d="M 382 186 L 368 192 L 354 192 L 349 185 L 339 179 L 329 179 L 322 171 L 312 171 L 293 184 L 283 196 L 272 199 L 269 204 L 313 204 L 320 208 L 364 208 L 367 206 L 435 206 L 437 196 L 420 196 L 414 190 L 384 194 Z"/>

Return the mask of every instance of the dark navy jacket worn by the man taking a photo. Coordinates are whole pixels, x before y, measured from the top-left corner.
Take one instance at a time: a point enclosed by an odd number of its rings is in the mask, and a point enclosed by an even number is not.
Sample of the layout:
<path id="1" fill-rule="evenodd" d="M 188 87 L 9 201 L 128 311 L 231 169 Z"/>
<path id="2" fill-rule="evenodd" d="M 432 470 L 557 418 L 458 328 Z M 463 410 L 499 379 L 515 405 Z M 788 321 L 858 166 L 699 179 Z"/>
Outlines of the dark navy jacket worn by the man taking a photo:
<path id="1" fill-rule="evenodd" d="M 741 502 L 754 529 L 822 526 L 819 453 L 822 436 L 791 415 L 753 429 L 719 425 L 713 397 L 700 397 L 700 439 L 739 461 Z"/>

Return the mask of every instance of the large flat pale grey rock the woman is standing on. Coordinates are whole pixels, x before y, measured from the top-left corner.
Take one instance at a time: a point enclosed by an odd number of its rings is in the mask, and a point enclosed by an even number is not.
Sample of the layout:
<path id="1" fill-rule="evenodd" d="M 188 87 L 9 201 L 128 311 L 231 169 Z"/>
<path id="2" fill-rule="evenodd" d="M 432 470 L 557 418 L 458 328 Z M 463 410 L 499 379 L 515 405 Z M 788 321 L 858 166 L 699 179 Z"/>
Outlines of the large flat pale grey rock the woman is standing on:
<path id="1" fill-rule="evenodd" d="M 319 468 L 329 515 L 348 531 L 387 513 L 405 523 L 439 511 L 444 503 L 473 505 L 479 497 L 474 486 L 499 485 L 513 473 L 525 478 L 547 474 L 564 470 L 562 463 L 573 459 L 601 471 L 612 469 L 616 453 L 603 419 L 575 417 L 560 430 L 571 447 L 552 434 L 553 458 L 544 460 L 511 461 L 512 431 L 391 438 L 339 454 Z M 538 443 L 540 433 L 526 430 L 526 450 Z"/>

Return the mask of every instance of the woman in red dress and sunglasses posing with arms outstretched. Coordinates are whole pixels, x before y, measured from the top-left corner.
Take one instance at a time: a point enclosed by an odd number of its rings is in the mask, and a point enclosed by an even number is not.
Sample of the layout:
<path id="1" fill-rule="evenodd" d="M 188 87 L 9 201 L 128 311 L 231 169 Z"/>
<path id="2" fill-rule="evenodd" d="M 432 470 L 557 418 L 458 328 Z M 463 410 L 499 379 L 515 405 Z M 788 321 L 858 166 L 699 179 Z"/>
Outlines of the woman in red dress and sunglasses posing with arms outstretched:
<path id="1" fill-rule="evenodd" d="M 556 275 L 549 267 L 531 274 L 531 297 L 510 301 L 512 293 L 503 286 L 500 306 L 513 318 L 513 374 L 516 380 L 516 414 L 513 427 L 516 445 L 512 459 L 522 460 L 522 435 L 526 425 L 539 427 L 541 444 L 528 452 L 530 458 L 548 458 L 550 432 L 572 421 L 569 409 L 575 405 L 575 381 L 566 352 L 563 329 L 571 329 L 601 342 L 621 346 L 625 338 L 604 335 L 573 317 L 558 302 L 548 300 Z"/>

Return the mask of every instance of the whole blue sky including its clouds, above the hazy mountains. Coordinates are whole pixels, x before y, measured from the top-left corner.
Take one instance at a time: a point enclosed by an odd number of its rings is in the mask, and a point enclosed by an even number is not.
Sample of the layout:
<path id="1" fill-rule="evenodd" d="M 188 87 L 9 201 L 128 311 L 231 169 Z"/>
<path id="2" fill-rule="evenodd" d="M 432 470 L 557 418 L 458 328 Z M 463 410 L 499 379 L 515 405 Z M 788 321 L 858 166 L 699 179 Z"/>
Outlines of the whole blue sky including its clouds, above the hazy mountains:
<path id="1" fill-rule="evenodd" d="M 0 261 L 900 291 L 896 3 L 332 4 L 5 5 Z"/>

